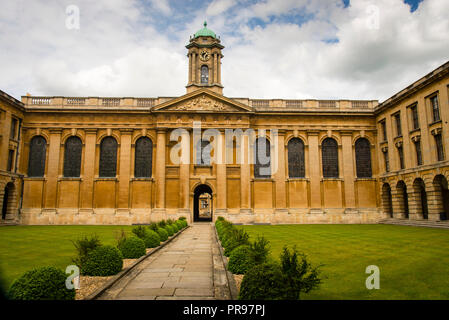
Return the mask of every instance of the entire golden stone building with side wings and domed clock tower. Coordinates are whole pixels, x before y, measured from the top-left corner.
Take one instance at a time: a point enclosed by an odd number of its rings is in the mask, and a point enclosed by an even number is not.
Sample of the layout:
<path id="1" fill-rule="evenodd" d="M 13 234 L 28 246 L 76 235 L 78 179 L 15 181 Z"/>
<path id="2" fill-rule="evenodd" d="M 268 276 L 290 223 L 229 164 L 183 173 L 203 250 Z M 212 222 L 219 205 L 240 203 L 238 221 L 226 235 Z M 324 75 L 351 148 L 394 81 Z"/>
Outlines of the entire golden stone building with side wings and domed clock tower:
<path id="1" fill-rule="evenodd" d="M 447 217 L 449 63 L 381 104 L 265 100 L 223 95 L 206 25 L 186 48 L 180 97 L 1 92 L 2 222 L 194 221 L 205 199 L 240 223 Z"/>

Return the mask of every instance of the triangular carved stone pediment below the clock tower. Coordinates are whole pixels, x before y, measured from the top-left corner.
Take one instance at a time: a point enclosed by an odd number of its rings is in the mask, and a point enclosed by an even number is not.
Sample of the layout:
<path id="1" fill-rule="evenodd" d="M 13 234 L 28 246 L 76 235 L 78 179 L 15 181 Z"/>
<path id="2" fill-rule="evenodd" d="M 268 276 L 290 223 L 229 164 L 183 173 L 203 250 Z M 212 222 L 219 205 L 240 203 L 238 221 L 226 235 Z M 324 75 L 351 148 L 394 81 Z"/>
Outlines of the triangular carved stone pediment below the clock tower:
<path id="1" fill-rule="evenodd" d="M 250 106 L 226 98 L 216 92 L 200 89 L 179 98 L 154 106 L 151 111 L 179 111 L 179 112 L 222 112 L 248 113 L 253 112 Z"/>

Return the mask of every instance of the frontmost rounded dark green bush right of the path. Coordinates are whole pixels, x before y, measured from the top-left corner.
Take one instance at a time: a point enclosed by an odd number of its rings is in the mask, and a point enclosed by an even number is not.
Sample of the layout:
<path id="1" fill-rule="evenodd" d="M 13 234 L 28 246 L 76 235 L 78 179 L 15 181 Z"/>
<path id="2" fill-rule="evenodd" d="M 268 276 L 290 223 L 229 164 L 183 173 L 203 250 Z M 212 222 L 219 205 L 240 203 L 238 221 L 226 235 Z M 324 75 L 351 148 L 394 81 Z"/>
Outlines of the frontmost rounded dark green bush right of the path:
<path id="1" fill-rule="evenodd" d="M 288 283 L 278 263 L 263 263 L 249 269 L 240 285 L 239 300 L 284 300 Z"/>

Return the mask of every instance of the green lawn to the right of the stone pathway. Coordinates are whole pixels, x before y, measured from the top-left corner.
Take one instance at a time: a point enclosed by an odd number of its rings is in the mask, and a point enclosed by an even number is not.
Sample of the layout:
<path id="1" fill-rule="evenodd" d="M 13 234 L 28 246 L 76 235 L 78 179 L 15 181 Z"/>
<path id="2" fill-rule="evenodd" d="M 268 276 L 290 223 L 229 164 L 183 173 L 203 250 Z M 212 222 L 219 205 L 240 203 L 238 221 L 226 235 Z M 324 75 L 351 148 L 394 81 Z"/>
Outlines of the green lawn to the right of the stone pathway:
<path id="1" fill-rule="evenodd" d="M 272 256 L 296 245 L 324 264 L 321 287 L 303 299 L 449 299 L 449 230 L 393 225 L 238 226 L 264 235 Z M 368 290 L 365 269 L 380 269 L 380 289 Z"/>

